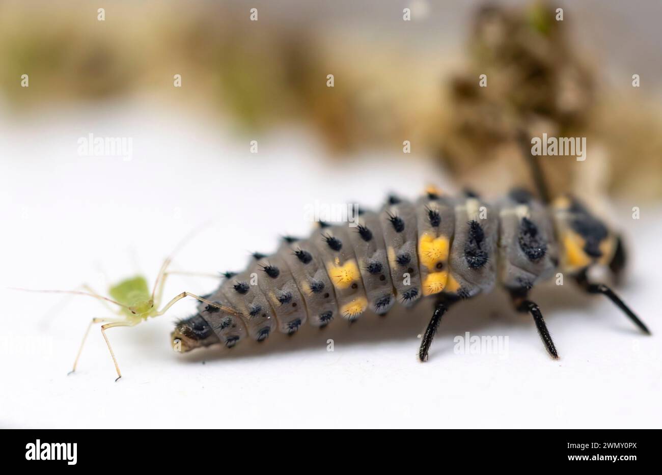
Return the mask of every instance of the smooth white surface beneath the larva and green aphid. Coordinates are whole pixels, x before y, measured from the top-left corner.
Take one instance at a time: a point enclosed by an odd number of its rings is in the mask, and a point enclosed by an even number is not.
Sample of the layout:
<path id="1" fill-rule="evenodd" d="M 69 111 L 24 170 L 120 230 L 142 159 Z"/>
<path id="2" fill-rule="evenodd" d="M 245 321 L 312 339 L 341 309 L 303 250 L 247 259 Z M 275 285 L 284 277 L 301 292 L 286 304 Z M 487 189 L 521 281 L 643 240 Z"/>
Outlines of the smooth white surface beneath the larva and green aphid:
<path id="1" fill-rule="evenodd" d="M 416 350 L 430 302 L 386 318 L 365 314 L 351 327 L 335 321 L 324 331 L 306 326 L 262 345 L 182 356 L 171 351 L 169 332 L 195 308 L 186 301 L 158 320 L 109 331 L 124 374 L 117 383 L 98 329 L 67 376 L 85 325 L 105 308 L 5 286 L 87 282 L 104 290 L 103 274 L 117 282 L 136 271 L 152 282 L 175 244 L 209 218 L 214 225 L 173 267 L 240 269 L 249 251 L 275 249 L 279 234 L 308 232 L 305 203 L 377 206 L 387 191 L 411 198 L 430 181 L 443 184 L 429 163 L 404 166 L 400 157 L 322 161 L 319 148 L 292 134 L 260 137 L 260 153 L 250 155 L 252 138 L 197 121 L 145 105 L 3 119 L 2 427 L 660 427 L 661 214 L 644 207 L 633 221 L 632 203 L 615 216 L 632 253 L 618 290 L 652 337 L 610 302 L 552 285 L 533 298 L 560 361 L 500 291 L 444 316 L 426 364 Z M 89 132 L 132 137 L 134 158 L 79 157 L 76 141 Z M 172 277 L 166 296 L 214 286 Z M 455 354 L 453 337 L 465 331 L 508 336 L 508 351 Z"/>

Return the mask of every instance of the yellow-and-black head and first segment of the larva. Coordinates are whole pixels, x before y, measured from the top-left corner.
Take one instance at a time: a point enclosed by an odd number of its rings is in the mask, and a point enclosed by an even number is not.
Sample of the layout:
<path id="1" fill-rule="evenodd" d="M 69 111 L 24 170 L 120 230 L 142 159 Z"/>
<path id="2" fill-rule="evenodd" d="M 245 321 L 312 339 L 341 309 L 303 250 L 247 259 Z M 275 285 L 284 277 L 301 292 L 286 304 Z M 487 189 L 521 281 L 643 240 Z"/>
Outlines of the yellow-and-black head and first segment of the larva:
<path id="1" fill-rule="evenodd" d="M 624 268 L 626 255 L 622 239 L 581 202 L 563 196 L 553 202 L 552 208 L 564 272 L 578 273 L 595 264 L 608 265 L 614 273 Z"/>

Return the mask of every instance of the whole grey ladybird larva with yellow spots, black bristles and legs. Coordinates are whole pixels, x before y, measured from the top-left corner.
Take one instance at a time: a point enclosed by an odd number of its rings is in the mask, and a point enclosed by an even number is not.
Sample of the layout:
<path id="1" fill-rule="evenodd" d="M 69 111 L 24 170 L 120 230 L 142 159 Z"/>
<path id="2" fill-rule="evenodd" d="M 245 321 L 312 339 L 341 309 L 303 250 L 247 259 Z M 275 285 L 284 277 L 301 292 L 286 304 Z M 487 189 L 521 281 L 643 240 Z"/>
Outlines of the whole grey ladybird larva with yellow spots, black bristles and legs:
<path id="1" fill-rule="evenodd" d="M 418 358 L 428 351 L 441 318 L 459 302 L 500 284 L 515 310 L 529 313 L 553 359 L 558 353 L 542 312 L 528 300 L 536 283 L 561 272 L 587 293 L 604 294 L 638 327 L 639 318 L 587 271 L 624 268 L 622 239 L 576 198 L 547 204 L 524 189 L 494 202 L 434 187 L 414 202 L 389 196 L 377 212 L 357 210 L 354 226 L 319 222 L 309 237 L 283 237 L 270 255 L 254 253 L 241 272 L 224 274 L 197 314 L 177 322 L 178 352 L 243 339 L 264 341 L 273 331 L 293 334 L 306 323 L 354 321 L 366 310 L 385 315 L 393 305 L 412 308 L 435 299 Z M 210 303 L 211 302 L 211 303 Z"/>

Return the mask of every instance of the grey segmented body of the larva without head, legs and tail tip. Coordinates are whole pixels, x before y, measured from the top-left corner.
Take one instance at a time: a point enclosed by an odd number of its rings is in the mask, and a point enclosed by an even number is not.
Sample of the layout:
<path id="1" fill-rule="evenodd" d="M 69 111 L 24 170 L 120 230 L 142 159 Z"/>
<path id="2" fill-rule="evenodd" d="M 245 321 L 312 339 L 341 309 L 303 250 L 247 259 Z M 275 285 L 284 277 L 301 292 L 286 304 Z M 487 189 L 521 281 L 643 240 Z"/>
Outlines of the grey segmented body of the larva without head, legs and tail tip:
<path id="1" fill-rule="evenodd" d="M 273 255 L 254 254 L 246 271 L 209 296 L 241 316 L 205 304 L 199 314 L 231 347 L 276 328 L 293 333 L 306 321 L 321 327 L 368 308 L 384 314 L 396 300 L 408 307 L 439 292 L 468 298 L 494 286 L 498 259 L 506 286 L 532 285 L 555 265 L 539 245 L 553 243 L 552 228 L 544 206 L 520 201 L 391 197 L 380 212 L 359 212 L 352 226 L 321 224 L 308 239 L 283 239 Z"/>

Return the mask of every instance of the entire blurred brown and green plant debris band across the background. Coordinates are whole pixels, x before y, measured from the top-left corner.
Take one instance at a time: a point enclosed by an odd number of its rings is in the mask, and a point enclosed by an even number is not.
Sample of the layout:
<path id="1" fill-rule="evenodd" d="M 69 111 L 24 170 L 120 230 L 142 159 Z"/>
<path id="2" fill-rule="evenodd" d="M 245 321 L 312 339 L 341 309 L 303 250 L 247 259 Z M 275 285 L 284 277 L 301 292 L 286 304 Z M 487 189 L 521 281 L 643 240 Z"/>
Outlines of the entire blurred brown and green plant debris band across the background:
<path id="1" fill-rule="evenodd" d="M 555 6 L 480 7 L 453 63 L 435 52 L 436 30 L 412 50 L 395 32 L 339 34 L 324 18 L 255 28 L 240 2 L 181 5 L 113 3 L 101 22 L 82 1 L 0 3 L 0 105 L 18 114 L 147 95 L 217 111 L 246 132 L 306 126 L 339 158 L 409 140 L 412 155 L 495 193 L 531 183 L 520 132 L 586 137 L 585 162 L 539 157 L 553 194 L 662 194 L 659 105 L 604 84 Z"/>

